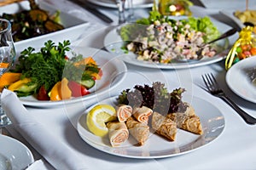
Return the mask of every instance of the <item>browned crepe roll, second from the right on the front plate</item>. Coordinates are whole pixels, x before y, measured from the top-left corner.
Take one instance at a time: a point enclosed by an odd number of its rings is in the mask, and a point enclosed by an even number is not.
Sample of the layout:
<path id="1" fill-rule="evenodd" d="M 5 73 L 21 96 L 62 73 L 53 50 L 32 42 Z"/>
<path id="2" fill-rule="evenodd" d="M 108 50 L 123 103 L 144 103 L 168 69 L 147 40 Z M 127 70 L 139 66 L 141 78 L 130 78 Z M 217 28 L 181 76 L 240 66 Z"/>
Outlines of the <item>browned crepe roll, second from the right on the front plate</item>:
<path id="1" fill-rule="evenodd" d="M 155 112 L 152 116 L 152 128 L 154 131 L 161 136 L 166 137 L 170 141 L 174 141 L 177 133 L 177 124 L 166 116 L 160 115 L 160 113 Z"/>

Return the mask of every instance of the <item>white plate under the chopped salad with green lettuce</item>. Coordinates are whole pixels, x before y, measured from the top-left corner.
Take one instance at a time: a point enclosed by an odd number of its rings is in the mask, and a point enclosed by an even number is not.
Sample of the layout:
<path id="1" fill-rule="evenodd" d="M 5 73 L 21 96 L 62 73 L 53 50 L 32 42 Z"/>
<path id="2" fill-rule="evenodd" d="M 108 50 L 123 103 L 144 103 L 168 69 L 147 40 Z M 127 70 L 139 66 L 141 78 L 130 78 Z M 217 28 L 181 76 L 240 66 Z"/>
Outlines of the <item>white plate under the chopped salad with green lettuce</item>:
<path id="1" fill-rule="evenodd" d="M 217 26 L 218 30 L 221 32 L 228 31 L 231 29 L 230 26 L 227 26 L 217 20 L 212 20 L 215 26 Z M 137 55 L 133 53 L 125 54 L 124 51 L 121 49 L 124 42 L 122 41 L 122 38 L 119 36 L 118 32 L 119 28 L 113 29 L 112 31 L 109 31 L 104 39 L 104 45 L 108 49 L 109 52 L 119 55 L 121 59 L 124 59 L 126 63 L 129 63 L 131 65 L 138 65 L 148 68 L 157 68 L 157 69 L 185 69 L 185 68 L 191 68 L 201 65 L 209 65 L 212 63 L 216 63 L 226 57 L 226 54 L 229 52 L 229 46 L 234 43 L 233 36 L 220 40 L 217 43 L 221 45 L 222 47 L 225 47 L 226 49 L 219 54 L 216 54 L 212 58 L 205 58 L 198 61 L 190 61 L 190 62 L 172 62 L 171 64 L 156 64 L 148 61 L 140 61 L 137 60 Z"/>

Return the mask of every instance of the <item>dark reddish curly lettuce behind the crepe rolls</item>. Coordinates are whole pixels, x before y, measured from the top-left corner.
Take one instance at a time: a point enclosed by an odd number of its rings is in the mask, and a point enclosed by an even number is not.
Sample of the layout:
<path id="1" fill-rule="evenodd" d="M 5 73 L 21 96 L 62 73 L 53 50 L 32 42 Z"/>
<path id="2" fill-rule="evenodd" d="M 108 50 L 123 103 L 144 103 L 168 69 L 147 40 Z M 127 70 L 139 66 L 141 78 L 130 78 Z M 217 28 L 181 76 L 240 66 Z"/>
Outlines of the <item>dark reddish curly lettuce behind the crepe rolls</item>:
<path id="1" fill-rule="evenodd" d="M 136 85 L 134 90 L 126 89 L 119 94 L 118 103 L 132 107 L 147 106 L 162 115 L 177 111 L 186 111 L 187 105 L 183 103 L 184 88 L 177 88 L 169 93 L 165 84 L 154 82 L 152 86 Z"/>

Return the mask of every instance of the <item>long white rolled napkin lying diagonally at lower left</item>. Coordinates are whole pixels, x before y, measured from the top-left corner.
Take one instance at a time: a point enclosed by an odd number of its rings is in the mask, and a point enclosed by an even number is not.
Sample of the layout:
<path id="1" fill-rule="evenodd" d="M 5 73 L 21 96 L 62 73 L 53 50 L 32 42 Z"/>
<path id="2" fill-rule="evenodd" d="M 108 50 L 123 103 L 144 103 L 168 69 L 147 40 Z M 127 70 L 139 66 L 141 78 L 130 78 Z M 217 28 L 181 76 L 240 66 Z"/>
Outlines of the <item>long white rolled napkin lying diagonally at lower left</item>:
<path id="1" fill-rule="evenodd" d="M 61 170 L 88 169 L 84 159 L 77 156 L 67 144 L 61 142 L 53 133 L 46 130 L 43 124 L 29 114 L 15 93 L 4 89 L 1 101 L 2 107 L 15 129 L 53 167 Z"/>

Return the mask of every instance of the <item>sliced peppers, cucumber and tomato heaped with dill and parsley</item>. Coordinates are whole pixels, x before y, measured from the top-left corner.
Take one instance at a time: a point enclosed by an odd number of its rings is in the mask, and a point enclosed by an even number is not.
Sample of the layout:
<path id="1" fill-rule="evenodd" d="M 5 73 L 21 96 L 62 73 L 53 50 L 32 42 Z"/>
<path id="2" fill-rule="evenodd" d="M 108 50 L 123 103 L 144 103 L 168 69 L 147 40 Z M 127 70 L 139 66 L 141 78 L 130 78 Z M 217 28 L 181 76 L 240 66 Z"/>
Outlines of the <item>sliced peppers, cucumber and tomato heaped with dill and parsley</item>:
<path id="1" fill-rule="evenodd" d="M 48 41 L 39 52 L 23 50 L 15 68 L 3 74 L 0 88 L 8 88 L 19 97 L 33 95 L 39 100 L 72 99 L 90 94 L 102 71 L 92 57 L 81 54 L 67 57 L 70 42 Z"/>

